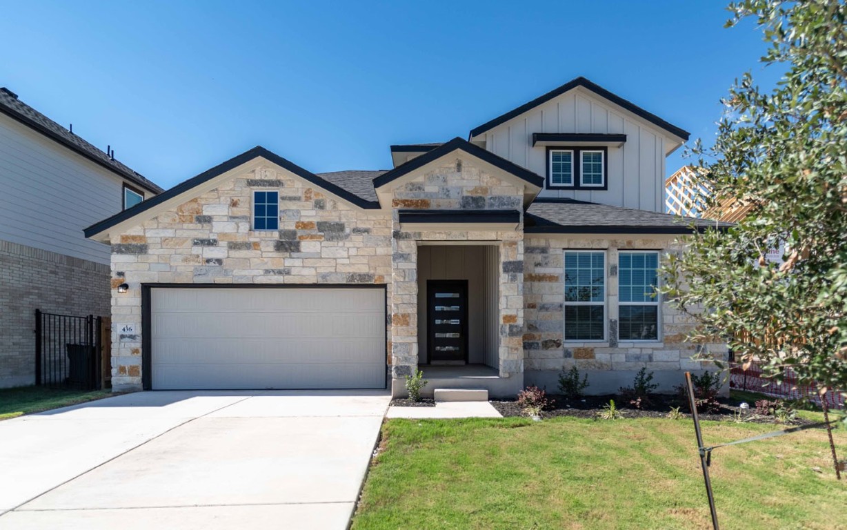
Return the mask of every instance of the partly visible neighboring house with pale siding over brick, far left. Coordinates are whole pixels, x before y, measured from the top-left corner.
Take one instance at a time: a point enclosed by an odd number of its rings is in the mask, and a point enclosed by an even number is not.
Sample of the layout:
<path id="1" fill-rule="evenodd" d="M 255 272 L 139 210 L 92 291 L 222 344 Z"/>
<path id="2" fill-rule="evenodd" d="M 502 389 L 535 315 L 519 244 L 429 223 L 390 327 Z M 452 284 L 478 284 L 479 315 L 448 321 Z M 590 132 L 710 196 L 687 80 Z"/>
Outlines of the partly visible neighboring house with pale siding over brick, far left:
<path id="1" fill-rule="evenodd" d="M 0 388 L 35 382 L 35 310 L 109 314 L 84 227 L 163 190 L 0 88 Z"/>

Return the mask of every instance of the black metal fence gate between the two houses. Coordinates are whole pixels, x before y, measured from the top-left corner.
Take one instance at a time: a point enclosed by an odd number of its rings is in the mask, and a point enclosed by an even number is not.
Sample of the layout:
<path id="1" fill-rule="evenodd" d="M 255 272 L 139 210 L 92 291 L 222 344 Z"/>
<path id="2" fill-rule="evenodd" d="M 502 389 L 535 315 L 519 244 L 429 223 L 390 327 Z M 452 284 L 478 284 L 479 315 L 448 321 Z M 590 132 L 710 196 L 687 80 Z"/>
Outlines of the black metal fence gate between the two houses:
<path id="1" fill-rule="evenodd" d="M 101 319 L 36 310 L 36 385 L 101 387 Z"/>

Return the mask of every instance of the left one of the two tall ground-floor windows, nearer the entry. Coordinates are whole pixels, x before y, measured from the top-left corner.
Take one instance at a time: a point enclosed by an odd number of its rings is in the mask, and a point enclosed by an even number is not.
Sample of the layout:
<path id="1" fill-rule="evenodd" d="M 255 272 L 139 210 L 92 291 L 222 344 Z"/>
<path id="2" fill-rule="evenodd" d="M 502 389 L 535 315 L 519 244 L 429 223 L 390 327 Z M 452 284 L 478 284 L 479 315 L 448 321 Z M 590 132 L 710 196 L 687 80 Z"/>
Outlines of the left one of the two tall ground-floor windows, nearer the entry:
<path id="1" fill-rule="evenodd" d="M 565 251 L 565 340 L 606 338 L 606 253 Z"/>

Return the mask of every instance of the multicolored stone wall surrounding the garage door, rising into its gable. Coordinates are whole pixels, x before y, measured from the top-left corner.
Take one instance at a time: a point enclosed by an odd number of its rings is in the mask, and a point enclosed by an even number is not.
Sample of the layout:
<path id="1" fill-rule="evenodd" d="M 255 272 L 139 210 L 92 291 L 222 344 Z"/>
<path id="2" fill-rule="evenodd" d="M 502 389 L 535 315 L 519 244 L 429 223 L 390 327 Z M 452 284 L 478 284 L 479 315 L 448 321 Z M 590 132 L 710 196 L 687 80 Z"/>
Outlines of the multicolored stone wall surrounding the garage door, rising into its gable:
<path id="1" fill-rule="evenodd" d="M 279 230 L 251 230 L 252 191 L 263 189 L 280 192 Z M 136 325 L 123 341 L 113 329 L 113 387 L 141 388 L 142 282 L 390 286 L 390 223 L 387 212 L 357 209 L 261 167 L 113 236 L 113 284 L 130 286 L 113 292 L 113 322 Z"/>

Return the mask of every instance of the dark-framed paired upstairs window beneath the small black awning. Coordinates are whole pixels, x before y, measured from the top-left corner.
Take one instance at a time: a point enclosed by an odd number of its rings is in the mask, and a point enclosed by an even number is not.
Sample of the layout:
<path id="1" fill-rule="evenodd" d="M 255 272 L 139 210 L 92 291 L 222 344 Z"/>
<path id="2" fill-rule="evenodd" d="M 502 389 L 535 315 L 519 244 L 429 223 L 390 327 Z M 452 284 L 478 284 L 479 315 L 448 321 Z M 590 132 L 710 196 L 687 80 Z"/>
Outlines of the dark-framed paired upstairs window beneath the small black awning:
<path id="1" fill-rule="evenodd" d="M 608 189 L 607 150 L 601 148 L 548 148 L 547 187 L 550 189 Z"/>

